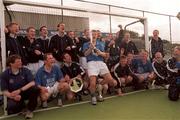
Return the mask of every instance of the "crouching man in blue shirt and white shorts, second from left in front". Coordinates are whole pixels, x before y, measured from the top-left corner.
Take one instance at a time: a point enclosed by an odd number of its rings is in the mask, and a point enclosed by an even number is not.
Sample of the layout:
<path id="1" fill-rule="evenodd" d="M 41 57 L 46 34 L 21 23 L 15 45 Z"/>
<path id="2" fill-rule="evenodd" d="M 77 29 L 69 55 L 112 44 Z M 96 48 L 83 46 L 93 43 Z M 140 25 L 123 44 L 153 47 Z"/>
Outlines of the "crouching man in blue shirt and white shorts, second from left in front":
<path id="1" fill-rule="evenodd" d="M 44 55 L 44 66 L 36 74 L 36 84 L 40 88 L 42 107 L 47 107 L 50 97 L 57 97 L 58 106 L 62 106 L 62 95 L 67 94 L 71 98 L 69 85 L 65 82 L 60 67 L 55 65 L 55 59 L 51 53 Z"/>

